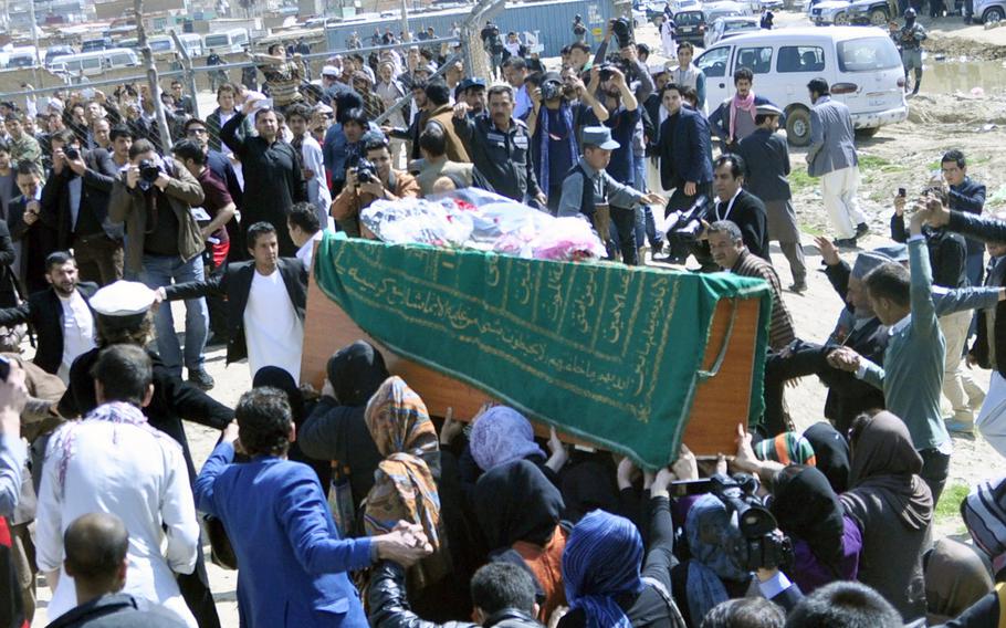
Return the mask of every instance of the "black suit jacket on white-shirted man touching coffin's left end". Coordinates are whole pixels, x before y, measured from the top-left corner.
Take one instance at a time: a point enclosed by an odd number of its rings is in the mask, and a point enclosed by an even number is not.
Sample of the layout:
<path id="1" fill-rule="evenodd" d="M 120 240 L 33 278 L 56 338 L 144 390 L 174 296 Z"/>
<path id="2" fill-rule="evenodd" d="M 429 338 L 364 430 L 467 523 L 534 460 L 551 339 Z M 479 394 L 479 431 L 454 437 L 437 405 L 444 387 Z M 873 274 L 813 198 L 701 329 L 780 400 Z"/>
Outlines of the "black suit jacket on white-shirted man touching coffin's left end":
<path id="1" fill-rule="evenodd" d="M 280 275 L 286 286 L 286 294 L 303 321 L 307 308 L 307 269 L 297 258 L 280 258 Z M 255 262 L 249 260 L 228 264 L 227 269 L 207 281 L 176 283 L 165 287 L 168 301 L 198 299 L 207 294 L 227 296 L 227 364 L 248 357 L 244 342 L 244 307 L 255 275 Z"/>

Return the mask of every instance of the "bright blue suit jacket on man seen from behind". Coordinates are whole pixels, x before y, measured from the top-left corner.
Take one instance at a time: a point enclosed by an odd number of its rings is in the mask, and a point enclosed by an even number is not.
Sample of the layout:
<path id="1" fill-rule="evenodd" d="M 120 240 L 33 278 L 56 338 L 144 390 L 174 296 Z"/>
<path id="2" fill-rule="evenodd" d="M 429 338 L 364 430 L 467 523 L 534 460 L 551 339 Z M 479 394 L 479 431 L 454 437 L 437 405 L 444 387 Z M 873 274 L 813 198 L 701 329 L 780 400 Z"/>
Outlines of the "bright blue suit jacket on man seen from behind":
<path id="1" fill-rule="evenodd" d="M 370 565 L 370 540 L 340 540 L 317 475 L 261 456 L 231 464 L 220 443 L 196 479 L 196 507 L 220 519 L 238 557 L 248 628 L 367 628 L 347 571 Z"/>

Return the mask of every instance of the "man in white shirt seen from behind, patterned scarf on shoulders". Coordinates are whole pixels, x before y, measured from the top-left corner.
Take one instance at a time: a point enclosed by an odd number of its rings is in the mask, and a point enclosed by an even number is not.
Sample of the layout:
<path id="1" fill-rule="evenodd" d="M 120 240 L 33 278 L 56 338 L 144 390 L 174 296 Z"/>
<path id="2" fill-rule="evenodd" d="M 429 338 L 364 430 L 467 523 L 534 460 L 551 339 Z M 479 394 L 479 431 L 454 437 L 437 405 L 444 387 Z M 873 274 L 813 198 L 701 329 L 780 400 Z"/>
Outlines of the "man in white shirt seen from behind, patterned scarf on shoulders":
<path id="1" fill-rule="evenodd" d="M 181 447 L 153 428 L 142 410 L 154 396 L 150 358 L 140 347 L 112 345 L 98 357 L 94 377 L 99 406 L 53 433 L 42 468 L 36 562 L 53 588 L 49 618 L 77 605 L 73 578 L 62 571 L 66 526 L 81 515 L 106 512 L 129 532 L 124 590 L 196 628 L 175 574 L 196 566 L 199 523 Z"/>

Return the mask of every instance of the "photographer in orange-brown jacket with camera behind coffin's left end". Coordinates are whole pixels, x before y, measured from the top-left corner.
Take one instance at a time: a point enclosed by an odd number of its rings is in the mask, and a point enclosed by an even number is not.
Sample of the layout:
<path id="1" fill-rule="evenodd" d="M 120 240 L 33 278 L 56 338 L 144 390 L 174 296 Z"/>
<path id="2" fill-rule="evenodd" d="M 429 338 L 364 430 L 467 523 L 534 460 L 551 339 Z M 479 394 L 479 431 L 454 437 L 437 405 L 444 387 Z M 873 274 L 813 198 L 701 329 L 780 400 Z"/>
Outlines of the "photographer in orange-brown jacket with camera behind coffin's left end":
<path id="1" fill-rule="evenodd" d="M 350 238 L 360 237 L 359 212 L 377 199 L 396 200 L 418 197 L 419 184 L 404 170 L 391 168 L 387 142 L 370 142 L 365 147 L 366 159 L 346 171 L 346 186 L 332 201 L 332 217 Z"/>

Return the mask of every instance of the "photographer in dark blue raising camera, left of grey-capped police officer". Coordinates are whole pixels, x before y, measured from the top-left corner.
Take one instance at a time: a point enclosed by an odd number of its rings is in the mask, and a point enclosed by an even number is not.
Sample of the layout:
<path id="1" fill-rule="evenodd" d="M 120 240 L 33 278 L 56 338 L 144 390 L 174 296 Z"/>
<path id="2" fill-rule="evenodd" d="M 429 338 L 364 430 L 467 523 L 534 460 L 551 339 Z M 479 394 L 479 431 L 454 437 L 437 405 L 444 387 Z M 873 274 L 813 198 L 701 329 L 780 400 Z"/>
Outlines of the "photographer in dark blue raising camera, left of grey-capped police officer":
<path id="1" fill-rule="evenodd" d="M 598 122 L 608 119 L 608 109 L 594 97 L 600 85 L 600 73 L 590 73 L 590 84 L 572 78 L 564 85 L 555 72 L 542 76 L 541 85 L 531 90 L 532 111 L 527 116 L 527 132 L 532 136 L 531 155 L 537 164 L 538 185 L 548 197 L 548 211 L 554 216 L 559 209 L 563 181 L 576 165 L 579 156 L 579 129 L 588 112 Z"/>

